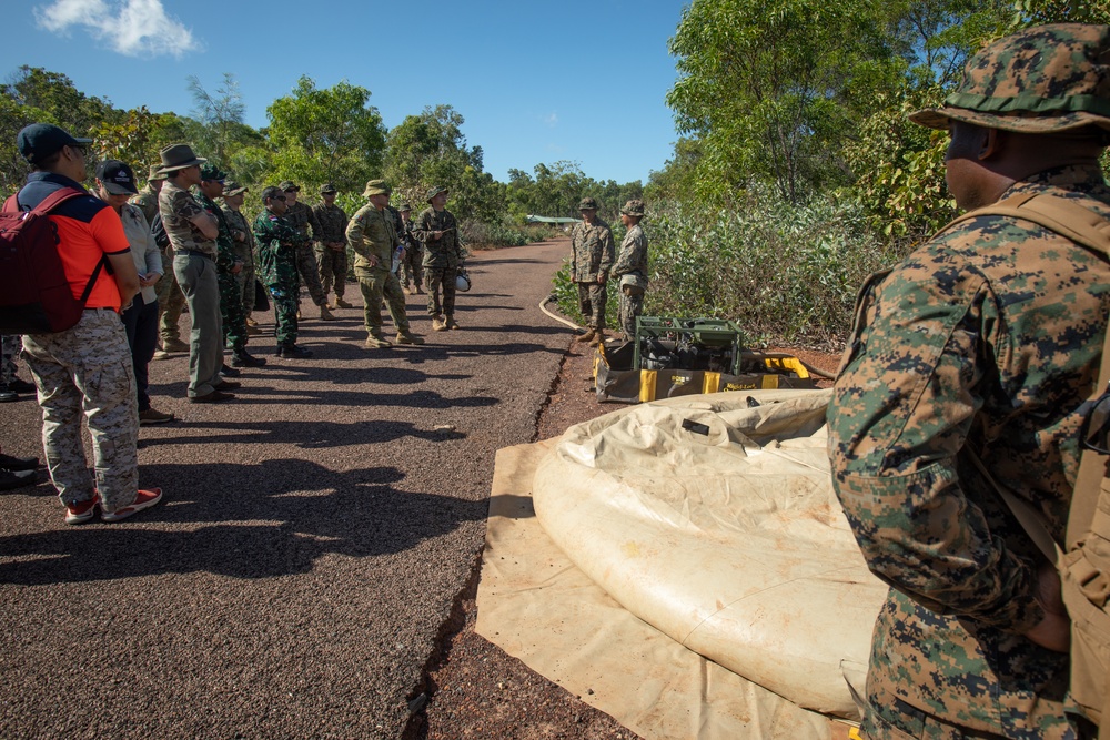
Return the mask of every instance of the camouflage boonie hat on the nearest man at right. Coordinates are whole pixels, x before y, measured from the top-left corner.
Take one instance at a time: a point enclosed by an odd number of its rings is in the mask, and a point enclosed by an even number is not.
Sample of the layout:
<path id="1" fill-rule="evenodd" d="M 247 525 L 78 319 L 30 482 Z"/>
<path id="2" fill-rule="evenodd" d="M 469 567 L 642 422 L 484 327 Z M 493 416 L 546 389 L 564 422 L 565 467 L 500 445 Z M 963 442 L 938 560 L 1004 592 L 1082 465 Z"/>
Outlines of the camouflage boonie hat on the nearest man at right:
<path id="1" fill-rule="evenodd" d="M 1035 26 L 999 39 L 968 60 L 944 108 L 909 120 L 930 129 L 962 121 L 1025 133 L 1110 130 L 1110 26 Z"/>

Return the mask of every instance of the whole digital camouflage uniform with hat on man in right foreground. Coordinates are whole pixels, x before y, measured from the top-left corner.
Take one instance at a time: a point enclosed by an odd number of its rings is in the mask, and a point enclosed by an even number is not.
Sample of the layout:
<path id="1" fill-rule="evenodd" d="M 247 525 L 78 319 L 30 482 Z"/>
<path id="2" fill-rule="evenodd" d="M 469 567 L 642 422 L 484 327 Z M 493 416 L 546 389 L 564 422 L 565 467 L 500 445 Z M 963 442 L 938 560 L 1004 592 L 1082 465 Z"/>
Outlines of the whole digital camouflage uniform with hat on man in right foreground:
<path id="1" fill-rule="evenodd" d="M 1074 95 L 1084 67 L 1073 61 L 1091 53 L 1076 51 L 1073 36 L 1097 39 L 1110 58 L 1106 27 L 1031 29 L 972 58 L 963 97 L 942 112 L 972 118 L 985 99 Z M 1072 61 L 1057 69 L 1078 69 L 1070 89 L 1053 90 L 1042 65 L 1059 54 Z M 912 118 L 947 125 L 928 111 Z M 1003 197 L 1021 193 L 1110 219 L 1097 166 L 1039 172 Z M 861 291 L 828 422 L 834 486 L 869 567 L 891 585 L 872 637 L 865 737 L 1077 737 L 1064 719 L 1068 657 L 1021 635 L 1045 615 L 1033 598 L 1043 558 L 971 455 L 1063 544 L 1107 305 L 1102 255 L 992 215 L 942 230 Z"/>

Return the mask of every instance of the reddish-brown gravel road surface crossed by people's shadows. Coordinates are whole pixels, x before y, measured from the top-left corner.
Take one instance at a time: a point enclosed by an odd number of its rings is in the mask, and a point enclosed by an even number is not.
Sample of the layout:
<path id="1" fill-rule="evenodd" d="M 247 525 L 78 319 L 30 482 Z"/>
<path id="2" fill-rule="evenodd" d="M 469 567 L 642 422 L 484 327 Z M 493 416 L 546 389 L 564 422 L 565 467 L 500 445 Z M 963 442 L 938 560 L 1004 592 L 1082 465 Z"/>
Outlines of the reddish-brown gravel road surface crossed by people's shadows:
<path id="1" fill-rule="evenodd" d="M 400 737 L 482 546 L 494 453 L 535 438 L 567 347 L 537 308 L 567 252 L 476 255 L 461 331 L 410 297 L 423 347 L 364 351 L 361 310 L 302 323 L 311 361 L 256 338 L 270 364 L 228 404 L 185 402 L 183 356 L 152 363 L 181 419 L 140 434 L 162 505 L 68 527 L 48 483 L 0 494 L 0 734 Z M 33 401 L 0 414 L 3 452 L 40 454 Z"/>

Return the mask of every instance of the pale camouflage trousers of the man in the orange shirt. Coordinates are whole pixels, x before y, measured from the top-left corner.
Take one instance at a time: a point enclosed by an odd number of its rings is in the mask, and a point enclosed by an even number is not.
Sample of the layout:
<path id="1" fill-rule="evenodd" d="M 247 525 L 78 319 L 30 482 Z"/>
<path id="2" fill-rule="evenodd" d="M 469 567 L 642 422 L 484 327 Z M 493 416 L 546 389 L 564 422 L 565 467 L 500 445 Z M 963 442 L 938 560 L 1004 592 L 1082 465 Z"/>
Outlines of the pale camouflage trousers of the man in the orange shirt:
<path id="1" fill-rule="evenodd" d="M 119 314 L 88 308 L 64 332 L 28 334 L 23 356 L 39 386 L 42 452 L 62 503 L 87 501 L 99 491 L 105 511 L 129 506 L 139 490 L 139 404 Z M 85 464 L 82 416 L 95 477 Z"/>

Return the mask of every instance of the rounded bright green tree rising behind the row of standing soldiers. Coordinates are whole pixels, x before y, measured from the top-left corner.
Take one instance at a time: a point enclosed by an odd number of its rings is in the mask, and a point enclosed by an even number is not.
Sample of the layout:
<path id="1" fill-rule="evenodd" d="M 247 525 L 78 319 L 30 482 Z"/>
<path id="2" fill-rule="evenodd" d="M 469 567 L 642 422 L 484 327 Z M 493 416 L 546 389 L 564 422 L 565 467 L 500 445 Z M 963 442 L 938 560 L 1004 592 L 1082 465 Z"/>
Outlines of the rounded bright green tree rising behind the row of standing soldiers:
<path id="1" fill-rule="evenodd" d="M 369 100 L 369 90 L 346 81 L 320 90 L 302 77 L 291 95 L 266 109 L 271 176 L 361 193 L 385 153 L 385 126 Z"/>

